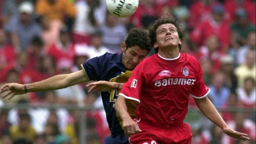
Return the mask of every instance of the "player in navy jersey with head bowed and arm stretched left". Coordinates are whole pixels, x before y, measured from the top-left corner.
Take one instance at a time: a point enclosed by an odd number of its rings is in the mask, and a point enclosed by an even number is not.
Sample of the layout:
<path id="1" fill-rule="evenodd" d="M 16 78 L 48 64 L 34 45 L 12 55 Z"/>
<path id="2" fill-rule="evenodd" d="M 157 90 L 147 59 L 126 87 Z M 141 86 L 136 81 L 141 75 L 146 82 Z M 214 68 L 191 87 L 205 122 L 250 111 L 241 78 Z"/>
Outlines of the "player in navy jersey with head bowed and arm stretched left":
<path id="1" fill-rule="evenodd" d="M 104 91 L 104 87 L 101 90 L 103 107 L 105 108 L 107 122 L 111 131 L 111 136 L 105 139 L 105 143 L 129 143 L 128 137 L 124 135 L 122 127 L 117 120 L 114 103 L 122 83 L 126 82 L 130 76 L 130 70 L 133 70 L 150 51 L 148 33 L 142 29 L 132 29 L 125 42 L 121 44 L 121 49 L 122 53 L 120 54 L 105 53 L 100 57 L 87 60 L 82 64 L 83 69 L 74 73 L 56 75 L 30 84 L 5 84 L 1 87 L 0 94 L 3 93 L 3 98 L 9 97 L 11 99 L 17 94 L 63 89 L 87 81 L 109 82 L 108 87 L 105 88 L 111 91 Z M 92 89 L 94 88 L 92 87 Z"/>

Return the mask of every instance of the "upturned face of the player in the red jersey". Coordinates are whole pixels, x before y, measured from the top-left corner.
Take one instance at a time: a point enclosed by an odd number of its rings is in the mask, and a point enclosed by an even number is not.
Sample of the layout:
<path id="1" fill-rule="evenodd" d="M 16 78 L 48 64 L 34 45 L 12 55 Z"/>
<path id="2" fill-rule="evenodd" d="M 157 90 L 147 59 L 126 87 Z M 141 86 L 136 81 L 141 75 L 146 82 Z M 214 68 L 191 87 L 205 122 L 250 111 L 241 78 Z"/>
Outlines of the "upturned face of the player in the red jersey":
<path id="1" fill-rule="evenodd" d="M 177 28 L 172 23 L 165 23 L 156 29 L 156 43 L 154 47 L 163 49 L 165 47 L 178 47 L 181 39 Z"/>

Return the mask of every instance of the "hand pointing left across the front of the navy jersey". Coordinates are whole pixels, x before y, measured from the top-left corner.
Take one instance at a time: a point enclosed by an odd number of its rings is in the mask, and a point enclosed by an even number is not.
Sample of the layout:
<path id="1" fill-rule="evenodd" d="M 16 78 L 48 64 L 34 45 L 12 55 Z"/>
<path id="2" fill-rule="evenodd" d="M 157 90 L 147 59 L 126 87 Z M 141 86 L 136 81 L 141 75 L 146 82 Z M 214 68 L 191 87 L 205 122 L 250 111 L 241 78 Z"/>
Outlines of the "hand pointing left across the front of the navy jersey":
<path id="1" fill-rule="evenodd" d="M 108 82 L 108 81 L 98 81 L 98 82 L 92 82 L 90 84 L 87 84 L 86 87 L 90 87 L 88 92 L 91 92 L 92 90 L 99 90 L 101 92 L 107 92 L 110 90 L 115 89 L 115 82 Z"/>

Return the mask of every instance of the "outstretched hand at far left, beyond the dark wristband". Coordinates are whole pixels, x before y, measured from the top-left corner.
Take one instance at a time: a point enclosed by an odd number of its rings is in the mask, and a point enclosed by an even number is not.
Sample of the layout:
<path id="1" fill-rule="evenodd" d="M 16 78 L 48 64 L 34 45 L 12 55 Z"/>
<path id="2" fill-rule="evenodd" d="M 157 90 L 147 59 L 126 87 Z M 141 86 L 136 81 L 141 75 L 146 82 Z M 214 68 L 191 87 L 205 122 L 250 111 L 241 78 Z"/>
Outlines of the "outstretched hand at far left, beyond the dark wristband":
<path id="1" fill-rule="evenodd" d="M 24 86 L 23 84 L 17 84 L 17 83 L 9 83 L 5 84 L 1 87 L 0 89 L 0 94 L 2 95 L 3 98 L 9 97 L 8 99 L 11 99 L 14 97 L 14 95 L 18 94 L 24 94 Z"/>

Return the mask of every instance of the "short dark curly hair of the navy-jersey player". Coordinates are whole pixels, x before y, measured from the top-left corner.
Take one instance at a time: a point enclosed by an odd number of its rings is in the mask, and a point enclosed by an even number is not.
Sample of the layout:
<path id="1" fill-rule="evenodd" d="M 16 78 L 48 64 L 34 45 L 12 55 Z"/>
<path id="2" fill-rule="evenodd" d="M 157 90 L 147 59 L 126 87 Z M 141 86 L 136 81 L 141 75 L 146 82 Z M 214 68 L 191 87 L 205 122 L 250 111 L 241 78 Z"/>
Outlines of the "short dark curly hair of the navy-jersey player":
<path id="1" fill-rule="evenodd" d="M 132 46 L 139 46 L 141 49 L 147 50 L 148 52 L 151 50 L 148 32 L 139 28 L 133 28 L 129 31 L 125 39 L 125 44 L 126 49 Z"/>

